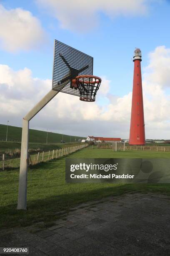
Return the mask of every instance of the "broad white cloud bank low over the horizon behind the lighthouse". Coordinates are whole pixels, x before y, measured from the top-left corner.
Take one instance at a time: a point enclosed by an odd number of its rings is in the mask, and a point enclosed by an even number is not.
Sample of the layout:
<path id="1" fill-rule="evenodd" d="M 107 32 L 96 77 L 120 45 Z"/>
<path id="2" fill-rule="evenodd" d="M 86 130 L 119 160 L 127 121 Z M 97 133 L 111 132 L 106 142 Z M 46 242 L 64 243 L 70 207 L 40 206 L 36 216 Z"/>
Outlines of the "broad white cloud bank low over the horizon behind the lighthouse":
<path id="1" fill-rule="evenodd" d="M 160 79 L 160 76 L 167 75 L 170 68 L 169 52 L 170 49 L 159 46 L 149 54 L 149 64 L 143 75 L 146 138 L 170 138 L 170 95 L 165 91 L 168 85 L 170 87 L 170 77 Z M 162 68 L 161 58 L 167 64 L 165 69 Z M 157 60 L 158 63 L 155 63 Z M 153 74 L 157 75 L 157 79 Z M 97 100 L 105 97 L 108 104 L 81 102 L 78 97 L 59 93 L 31 120 L 30 127 L 72 135 L 128 138 L 132 93 L 115 97 L 109 93 L 110 83 L 103 77 L 96 97 Z M 7 65 L 0 65 L 1 122 L 10 120 L 11 125 L 20 126 L 22 117 L 50 88 L 51 80 L 33 78 L 30 69 L 15 72 Z"/>

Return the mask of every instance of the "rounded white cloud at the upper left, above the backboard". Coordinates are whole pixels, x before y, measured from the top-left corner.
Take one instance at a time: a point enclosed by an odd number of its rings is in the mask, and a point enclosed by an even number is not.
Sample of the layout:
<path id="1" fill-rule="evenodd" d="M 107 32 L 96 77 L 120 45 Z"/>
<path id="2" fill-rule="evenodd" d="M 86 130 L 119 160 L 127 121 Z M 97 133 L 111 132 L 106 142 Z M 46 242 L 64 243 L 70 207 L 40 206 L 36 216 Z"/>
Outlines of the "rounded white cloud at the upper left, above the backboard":
<path id="1" fill-rule="evenodd" d="M 27 10 L 0 5 L 0 44 L 7 51 L 29 50 L 45 38 L 40 21 Z"/>

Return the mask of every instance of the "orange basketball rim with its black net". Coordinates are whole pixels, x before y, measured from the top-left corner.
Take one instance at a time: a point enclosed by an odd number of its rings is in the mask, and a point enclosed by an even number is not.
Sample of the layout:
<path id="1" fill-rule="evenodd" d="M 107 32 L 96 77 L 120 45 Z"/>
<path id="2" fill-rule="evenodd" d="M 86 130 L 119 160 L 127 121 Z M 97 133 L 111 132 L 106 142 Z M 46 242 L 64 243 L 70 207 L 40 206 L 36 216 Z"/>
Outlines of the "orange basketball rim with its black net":
<path id="1" fill-rule="evenodd" d="M 72 79 L 72 87 L 80 92 L 80 100 L 93 102 L 102 79 L 92 75 L 80 75 Z"/>

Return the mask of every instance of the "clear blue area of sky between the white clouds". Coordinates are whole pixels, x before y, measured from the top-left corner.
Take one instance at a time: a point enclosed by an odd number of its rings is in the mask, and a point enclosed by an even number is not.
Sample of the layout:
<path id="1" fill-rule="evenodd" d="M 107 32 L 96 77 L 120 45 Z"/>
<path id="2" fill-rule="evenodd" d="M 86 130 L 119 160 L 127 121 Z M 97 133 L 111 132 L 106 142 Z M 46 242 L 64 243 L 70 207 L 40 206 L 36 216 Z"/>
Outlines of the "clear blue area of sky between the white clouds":
<path id="1" fill-rule="evenodd" d="M 112 81 L 111 91 L 124 95 L 131 90 L 133 79 L 133 51 L 139 47 L 143 54 L 142 66 L 148 64 L 148 53 L 158 45 L 170 46 L 168 1 L 151 1 L 148 13 L 142 16 L 118 16 L 110 19 L 100 13 L 100 24 L 89 33 L 61 29 L 57 19 L 41 9 L 35 1 L 5 0 L 5 8 L 23 8 L 40 19 L 47 32 L 40 49 L 7 53 L 0 51 L 1 63 L 13 69 L 28 67 L 34 77 L 52 78 L 53 41 L 57 39 L 94 57 L 94 74 L 105 75 Z M 140 12 L 140 10 L 139 10 Z M 90 39 L 91 38 L 91 39 Z M 46 65 L 45 65 L 45 64 Z"/>

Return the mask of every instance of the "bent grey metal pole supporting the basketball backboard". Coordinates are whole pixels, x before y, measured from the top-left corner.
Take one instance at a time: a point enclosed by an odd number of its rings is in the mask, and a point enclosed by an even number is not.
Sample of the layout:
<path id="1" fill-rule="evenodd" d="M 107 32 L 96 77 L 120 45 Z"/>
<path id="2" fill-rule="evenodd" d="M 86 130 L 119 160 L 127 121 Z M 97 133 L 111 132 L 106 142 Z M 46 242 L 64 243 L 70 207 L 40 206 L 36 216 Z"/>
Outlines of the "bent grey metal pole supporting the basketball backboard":
<path id="1" fill-rule="evenodd" d="M 27 171 L 28 171 L 28 134 L 29 121 L 50 101 L 57 91 L 50 90 L 45 97 L 38 102 L 32 110 L 23 118 L 23 131 L 21 141 L 21 157 L 20 157 L 20 180 L 18 191 L 18 207 L 17 209 L 27 210 Z"/>

